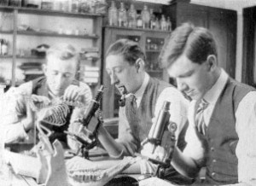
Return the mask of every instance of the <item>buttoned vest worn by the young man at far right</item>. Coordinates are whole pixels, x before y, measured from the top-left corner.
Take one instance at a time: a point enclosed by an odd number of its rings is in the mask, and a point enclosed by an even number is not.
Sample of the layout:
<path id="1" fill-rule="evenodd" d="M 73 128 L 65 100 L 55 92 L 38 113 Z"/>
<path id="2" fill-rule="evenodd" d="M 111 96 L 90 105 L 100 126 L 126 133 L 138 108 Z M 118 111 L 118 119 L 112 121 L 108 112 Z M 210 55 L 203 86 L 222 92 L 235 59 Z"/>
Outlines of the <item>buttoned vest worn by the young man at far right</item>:
<path id="1" fill-rule="evenodd" d="M 237 183 L 236 109 L 242 98 L 254 90 L 229 78 L 216 102 L 207 127 L 210 155 L 207 160 L 207 183 Z M 245 111 L 246 112 L 246 111 Z"/>

